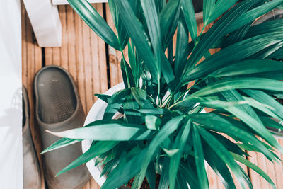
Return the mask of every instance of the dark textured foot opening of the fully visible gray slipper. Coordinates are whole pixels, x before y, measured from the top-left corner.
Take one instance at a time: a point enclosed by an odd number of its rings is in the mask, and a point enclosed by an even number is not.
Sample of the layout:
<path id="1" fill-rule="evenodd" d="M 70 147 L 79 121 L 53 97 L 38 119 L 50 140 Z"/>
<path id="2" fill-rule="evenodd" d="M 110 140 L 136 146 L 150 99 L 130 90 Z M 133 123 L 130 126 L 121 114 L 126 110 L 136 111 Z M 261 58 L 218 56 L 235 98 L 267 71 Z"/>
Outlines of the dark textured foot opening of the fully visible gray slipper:
<path id="1" fill-rule="evenodd" d="M 69 76 L 57 67 L 47 67 L 37 76 L 39 118 L 47 124 L 62 122 L 74 114 L 76 95 Z"/>

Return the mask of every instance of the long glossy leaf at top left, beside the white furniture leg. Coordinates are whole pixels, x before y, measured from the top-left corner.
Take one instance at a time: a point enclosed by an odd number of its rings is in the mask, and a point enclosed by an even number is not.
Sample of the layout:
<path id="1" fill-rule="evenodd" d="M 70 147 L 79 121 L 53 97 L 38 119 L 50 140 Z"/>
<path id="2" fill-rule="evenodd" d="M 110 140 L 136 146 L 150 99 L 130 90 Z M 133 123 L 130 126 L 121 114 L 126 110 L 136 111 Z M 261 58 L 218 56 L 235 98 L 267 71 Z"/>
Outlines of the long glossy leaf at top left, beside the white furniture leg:
<path id="1" fill-rule="evenodd" d="M 74 11 L 86 22 L 86 24 L 108 45 L 114 47 L 116 50 L 120 50 L 119 40 L 117 36 L 100 16 L 91 4 L 86 0 L 68 0 L 69 4 Z"/>

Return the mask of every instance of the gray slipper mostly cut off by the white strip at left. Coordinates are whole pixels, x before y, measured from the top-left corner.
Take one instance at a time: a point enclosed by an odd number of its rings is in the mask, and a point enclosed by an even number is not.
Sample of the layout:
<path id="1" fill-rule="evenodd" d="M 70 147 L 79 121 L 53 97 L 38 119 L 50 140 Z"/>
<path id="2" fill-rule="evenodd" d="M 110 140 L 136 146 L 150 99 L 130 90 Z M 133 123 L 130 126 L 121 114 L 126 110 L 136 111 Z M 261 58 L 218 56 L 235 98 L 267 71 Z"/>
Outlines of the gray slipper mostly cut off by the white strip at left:
<path id="1" fill-rule="evenodd" d="M 23 86 L 23 189 L 40 189 L 41 178 L 33 139 L 30 134 L 28 93 Z"/>

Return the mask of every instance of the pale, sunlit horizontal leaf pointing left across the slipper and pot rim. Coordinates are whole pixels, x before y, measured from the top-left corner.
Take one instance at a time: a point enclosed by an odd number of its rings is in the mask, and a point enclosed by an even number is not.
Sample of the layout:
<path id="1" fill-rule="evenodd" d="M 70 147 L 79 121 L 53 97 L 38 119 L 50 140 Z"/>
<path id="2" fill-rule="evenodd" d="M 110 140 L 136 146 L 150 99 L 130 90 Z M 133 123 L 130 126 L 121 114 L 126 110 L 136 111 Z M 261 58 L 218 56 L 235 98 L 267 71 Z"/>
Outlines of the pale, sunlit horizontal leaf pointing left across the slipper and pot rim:
<path id="1" fill-rule="evenodd" d="M 69 139 L 92 139 L 102 141 L 127 141 L 152 138 L 151 130 L 144 129 L 142 125 L 127 124 L 124 122 L 101 124 L 50 133 L 58 137 Z"/>

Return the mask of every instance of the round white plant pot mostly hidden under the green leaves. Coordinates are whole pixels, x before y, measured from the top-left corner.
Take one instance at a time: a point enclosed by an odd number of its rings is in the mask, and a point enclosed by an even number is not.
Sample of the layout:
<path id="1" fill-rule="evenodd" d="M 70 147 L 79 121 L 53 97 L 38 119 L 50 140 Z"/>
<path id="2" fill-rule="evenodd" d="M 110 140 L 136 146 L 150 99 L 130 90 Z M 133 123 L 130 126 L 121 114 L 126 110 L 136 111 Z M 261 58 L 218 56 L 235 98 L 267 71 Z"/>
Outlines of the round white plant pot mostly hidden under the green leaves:
<path id="1" fill-rule="evenodd" d="M 112 94 L 114 94 L 116 91 L 120 91 L 124 88 L 125 85 L 123 83 L 120 83 L 110 88 L 104 94 L 112 96 Z M 88 112 L 84 125 L 88 125 L 89 123 L 96 120 L 102 120 L 107 105 L 108 105 L 107 103 L 105 103 L 101 99 L 98 99 L 96 103 L 93 104 L 93 107 L 91 107 L 91 110 Z M 202 113 L 205 113 L 204 109 L 202 110 Z M 83 140 L 83 142 L 81 142 L 83 153 L 85 153 L 91 147 L 91 143 L 92 140 Z M 91 173 L 93 179 L 98 183 L 98 185 L 101 186 L 105 182 L 106 178 L 105 176 L 102 176 L 100 178 L 102 169 L 100 168 L 100 166 L 94 166 L 95 162 L 96 159 L 91 159 L 91 161 L 88 161 L 88 163 L 86 163 L 86 166 L 88 168 L 88 171 Z M 207 162 L 205 161 L 204 163 L 205 163 L 205 167 L 207 167 Z"/>

